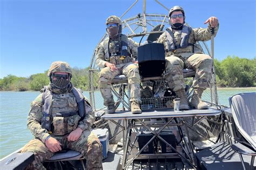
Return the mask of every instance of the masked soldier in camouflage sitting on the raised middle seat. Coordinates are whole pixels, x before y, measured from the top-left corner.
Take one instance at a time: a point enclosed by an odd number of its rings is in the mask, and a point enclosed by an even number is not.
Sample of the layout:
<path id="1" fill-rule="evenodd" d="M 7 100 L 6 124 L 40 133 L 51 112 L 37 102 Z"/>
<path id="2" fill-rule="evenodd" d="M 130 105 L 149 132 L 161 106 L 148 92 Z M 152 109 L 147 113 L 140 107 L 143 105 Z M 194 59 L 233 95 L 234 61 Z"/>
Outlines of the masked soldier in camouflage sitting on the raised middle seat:
<path id="1" fill-rule="evenodd" d="M 122 22 L 117 16 L 106 19 L 106 31 L 109 37 L 103 40 L 96 51 L 96 64 L 102 68 L 99 73 L 99 89 L 107 106 L 107 113 L 116 111 L 111 81 L 115 76 L 124 74 L 128 78 L 131 91 L 130 102 L 133 114 L 140 114 L 140 76 L 137 63 L 133 59 L 138 56 L 138 43 L 122 34 Z"/>

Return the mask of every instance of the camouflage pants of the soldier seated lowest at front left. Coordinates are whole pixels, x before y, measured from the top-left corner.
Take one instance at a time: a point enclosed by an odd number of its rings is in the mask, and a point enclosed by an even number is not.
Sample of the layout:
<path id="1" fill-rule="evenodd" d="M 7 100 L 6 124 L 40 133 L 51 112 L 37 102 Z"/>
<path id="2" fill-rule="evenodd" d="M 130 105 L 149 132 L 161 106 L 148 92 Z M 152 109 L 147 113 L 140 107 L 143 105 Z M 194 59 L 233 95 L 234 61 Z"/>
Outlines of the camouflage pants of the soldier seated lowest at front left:
<path id="1" fill-rule="evenodd" d="M 86 159 L 86 169 L 102 169 L 102 144 L 98 137 L 91 131 L 84 131 L 77 141 L 68 141 L 65 136 L 52 136 L 62 144 L 62 150 L 67 148 L 80 152 Z M 27 167 L 28 169 L 46 169 L 42 162 L 51 158 L 54 153 L 48 150 L 48 147 L 39 140 L 32 139 L 22 148 L 23 152 L 33 152 L 35 161 Z"/>

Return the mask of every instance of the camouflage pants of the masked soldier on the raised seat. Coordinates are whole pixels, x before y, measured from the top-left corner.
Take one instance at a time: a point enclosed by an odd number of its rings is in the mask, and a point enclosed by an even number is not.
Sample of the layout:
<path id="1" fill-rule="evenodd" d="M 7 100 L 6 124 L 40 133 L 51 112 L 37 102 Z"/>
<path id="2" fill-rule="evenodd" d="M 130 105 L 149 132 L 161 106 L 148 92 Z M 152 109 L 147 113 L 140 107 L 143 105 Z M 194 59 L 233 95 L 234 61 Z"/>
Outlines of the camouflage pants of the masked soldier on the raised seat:
<path id="1" fill-rule="evenodd" d="M 128 86 L 131 91 L 130 101 L 140 101 L 140 76 L 139 67 L 132 62 L 116 65 L 117 70 L 112 70 L 109 67 L 105 67 L 100 70 L 99 73 L 99 90 L 104 98 L 104 105 L 113 105 L 114 99 L 111 93 L 111 81 L 117 75 L 124 74 L 128 79 Z"/>

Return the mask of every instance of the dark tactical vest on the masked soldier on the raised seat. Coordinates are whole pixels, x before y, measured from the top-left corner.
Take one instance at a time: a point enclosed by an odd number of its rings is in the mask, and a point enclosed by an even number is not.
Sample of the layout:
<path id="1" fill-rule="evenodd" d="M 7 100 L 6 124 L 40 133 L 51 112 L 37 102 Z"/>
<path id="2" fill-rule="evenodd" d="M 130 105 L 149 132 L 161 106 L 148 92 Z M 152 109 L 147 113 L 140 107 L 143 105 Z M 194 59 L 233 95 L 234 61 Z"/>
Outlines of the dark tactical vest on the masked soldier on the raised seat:
<path id="1" fill-rule="evenodd" d="M 114 65 L 120 65 L 122 63 L 131 62 L 131 53 L 128 46 L 128 38 L 121 34 L 116 41 L 112 41 L 106 38 L 103 42 L 105 60 L 113 63 Z"/>

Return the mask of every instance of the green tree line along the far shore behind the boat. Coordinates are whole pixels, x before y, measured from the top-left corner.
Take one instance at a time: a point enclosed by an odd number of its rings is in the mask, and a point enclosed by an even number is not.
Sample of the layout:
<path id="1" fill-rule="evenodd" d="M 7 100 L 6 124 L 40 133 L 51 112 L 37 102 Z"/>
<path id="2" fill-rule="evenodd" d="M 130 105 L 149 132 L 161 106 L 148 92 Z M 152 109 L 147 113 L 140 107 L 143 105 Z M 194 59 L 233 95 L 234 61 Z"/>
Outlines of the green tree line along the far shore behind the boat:
<path id="1" fill-rule="evenodd" d="M 227 56 L 222 61 L 214 59 L 214 68 L 218 87 L 256 87 L 256 58 L 245 59 L 238 56 Z M 89 90 L 89 69 L 89 67 L 72 68 L 71 82 L 75 87 Z M 41 90 L 50 83 L 47 73 L 48 70 L 29 77 L 17 77 L 10 74 L 0 79 L 0 90 Z M 98 82 L 93 82 L 97 86 Z"/>

